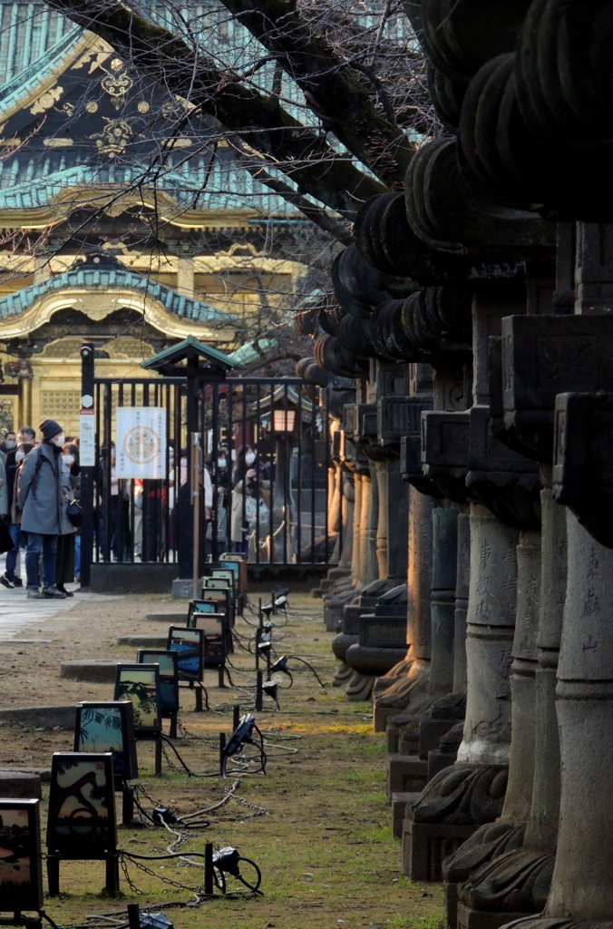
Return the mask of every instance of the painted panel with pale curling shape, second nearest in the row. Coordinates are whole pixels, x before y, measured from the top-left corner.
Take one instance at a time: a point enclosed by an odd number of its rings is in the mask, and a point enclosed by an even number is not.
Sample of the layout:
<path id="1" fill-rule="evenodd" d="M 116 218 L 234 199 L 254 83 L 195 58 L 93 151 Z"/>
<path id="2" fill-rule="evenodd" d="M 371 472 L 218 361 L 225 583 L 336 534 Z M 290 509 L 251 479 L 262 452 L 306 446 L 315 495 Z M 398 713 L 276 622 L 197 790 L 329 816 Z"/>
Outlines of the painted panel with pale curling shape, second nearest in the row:
<path id="1" fill-rule="evenodd" d="M 116 847 L 111 753 L 52 755 L 46 841 L 75 858 Z"/>

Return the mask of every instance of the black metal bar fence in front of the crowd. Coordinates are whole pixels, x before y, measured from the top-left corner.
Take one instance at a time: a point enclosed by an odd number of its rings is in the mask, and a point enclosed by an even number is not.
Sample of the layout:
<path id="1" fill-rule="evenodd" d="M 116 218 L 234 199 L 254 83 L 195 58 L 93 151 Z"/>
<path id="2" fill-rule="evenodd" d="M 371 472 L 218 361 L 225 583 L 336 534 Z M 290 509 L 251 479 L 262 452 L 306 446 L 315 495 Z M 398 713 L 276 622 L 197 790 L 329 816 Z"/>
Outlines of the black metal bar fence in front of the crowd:
<path id="1" fill-rule="evenodd" d="M 330 525 L 327 389 L 304 390 L 299 378 L 228 377 L 202 382 L 194 406 L 183 378 L 93 384 L 97 464 L 83 485 L 85 565 L 176 562 L 178 576 L 191 576 L 194 499 L 202 562 L 242 551 L 259 565 L 331 563 L 342 526 Z M 117 477 L 117 411 L 130 407 L 165 411 L 161 478 Z"/>

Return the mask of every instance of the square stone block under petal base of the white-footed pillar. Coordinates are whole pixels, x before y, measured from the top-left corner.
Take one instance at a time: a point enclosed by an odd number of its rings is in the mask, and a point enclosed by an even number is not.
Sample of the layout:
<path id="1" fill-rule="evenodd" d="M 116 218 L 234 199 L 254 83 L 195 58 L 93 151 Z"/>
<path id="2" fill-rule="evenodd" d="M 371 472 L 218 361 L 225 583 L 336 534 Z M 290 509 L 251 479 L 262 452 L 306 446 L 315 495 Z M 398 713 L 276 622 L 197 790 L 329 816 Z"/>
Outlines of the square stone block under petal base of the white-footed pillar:
<path id="1" fill-rule="evenodd" d="M 402 873 L 411 881 L 441 881 L 443 860 L 469 839 L 476 826 L 448 823 L 402 823 Z"/>

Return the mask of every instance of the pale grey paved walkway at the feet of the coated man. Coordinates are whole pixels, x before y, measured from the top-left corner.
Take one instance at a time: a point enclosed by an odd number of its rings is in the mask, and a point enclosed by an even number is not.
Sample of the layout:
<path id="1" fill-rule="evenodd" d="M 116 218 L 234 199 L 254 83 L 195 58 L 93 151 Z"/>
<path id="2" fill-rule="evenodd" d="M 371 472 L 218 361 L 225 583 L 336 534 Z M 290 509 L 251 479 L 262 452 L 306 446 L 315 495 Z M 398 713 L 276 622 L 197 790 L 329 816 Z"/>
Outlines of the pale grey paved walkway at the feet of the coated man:
<path id="1" fill-rule="evenodd" d="M 67 584 L 67 588 L 78 590 L 78 585 Z M 47 622 L 59 614 L 62 615 L 62 619 L 64 614 L 69 614 L 66 619 L 78 620 L 80 618 L 79 605 L 90 603 L 92 600 L 103 603 L 106 600 L 120 599 L 121 596 L 82 594 L 78 591 L 74 596 L 66 597 L 65 600 L 29 600 L 25 587 L 7 590 L 6 587 L 0 585 L 0 641 L 45 641 L 42 636 L 30 638 L 26 630 L 35 623 Z M 72 615 L 70 615 L 71 611 Z"/>

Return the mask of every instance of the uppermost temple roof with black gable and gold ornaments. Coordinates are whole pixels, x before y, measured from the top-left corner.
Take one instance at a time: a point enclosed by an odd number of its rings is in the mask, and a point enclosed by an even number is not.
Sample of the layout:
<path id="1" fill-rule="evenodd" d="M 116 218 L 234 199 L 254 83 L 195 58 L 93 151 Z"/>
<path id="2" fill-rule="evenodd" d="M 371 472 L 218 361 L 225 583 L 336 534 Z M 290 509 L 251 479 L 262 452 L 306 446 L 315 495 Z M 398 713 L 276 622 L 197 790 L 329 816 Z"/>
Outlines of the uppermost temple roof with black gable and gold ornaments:
<path id="1" fill-rule="evenodd" d="M 0 0 L 0 20 L 7 20 L 8 7 L 18 20 L 23 7 L 32 7 L 33 21 L 41 20 L 38 4 L 15 0 Z M 5 56 L 11 62 L 4 65 L 9 80 L 0 87 L 0 212 L 27 214 L 91 188 L 102 211 L 102 189 L 110 203 L 121 187 L 132 190 L 135 202 L 141 190 L 162 191 L 168 198 L 165 218 L 175 224 L 185 215 L 191 228 L 199 221 L 205 225 L 201 214 L 217 210 L 287 214 L 284 201 L 236 164 L 210 119 L 186 109 L 170 92 L 164 98 L 158 85 L 127 68 L 93 33 L 72 24 L 68 31 L 54 30 L 46 16 L 42 22 L 47 28 L 36 45 L 39 58 L 27 54 L 33 33 L 28 36 L 23 23 L 7 24 L 14 45 L 22 46 L 21 70 L 7 36 L 0 41 L 0 73 Z M 51 35 L 59 36 L 55 45 L 48 44 Z M 85 200 L 77 198 L 78 205 Z M 35 217 L 33 226 L 60 221 L 66 213 L 64 203 L 51 215 Z M 28 216 L 19 216 L 19 222 L 29 225 Z"/>

